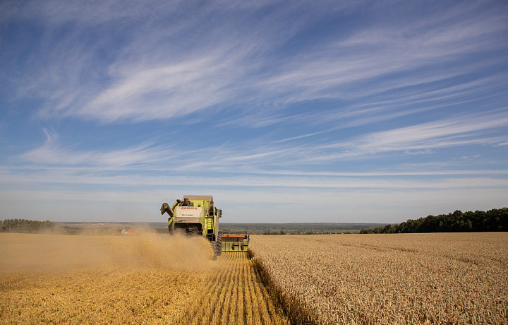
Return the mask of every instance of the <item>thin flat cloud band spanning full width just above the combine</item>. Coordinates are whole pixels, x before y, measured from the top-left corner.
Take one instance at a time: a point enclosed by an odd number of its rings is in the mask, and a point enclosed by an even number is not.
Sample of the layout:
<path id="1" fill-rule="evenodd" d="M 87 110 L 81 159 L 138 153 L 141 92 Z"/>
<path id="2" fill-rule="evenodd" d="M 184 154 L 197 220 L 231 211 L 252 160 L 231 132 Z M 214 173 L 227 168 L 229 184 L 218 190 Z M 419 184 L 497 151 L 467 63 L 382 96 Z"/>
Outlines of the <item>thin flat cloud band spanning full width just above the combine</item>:
<path id="1" fill-rule="evenodd" d="M 268 188 L 301 188 L 301 189 L 365 189 L 372 191 L 392 191 L 397 189 L 461 189 L 461 188 L 499 188 L 508 187 L 507 170 L 490 171 L 444 171 L 444 172 L 371 172 L 340 175 L 334 173 L 322 173 L 308 175 L 291 175 L 290 172 L 278 174 L 241 175 L 240 173 L 217 173 L 217 176 L 207 176 L 206 173 L 199 175 L 169 175 L 150 174 L 136 170 L 135 175 L 104 175 L 104 170 L 95 171 L 67 169 L 66 172 L 58 170 L 46 170 L 37 175 L 10 175 L 8 172 L 1 173 L 1 184 L 81 184 L 101 186 L 104 184 L 115 185 L 119 189 L 132 189 L 135 187 L 151 188 L 157 186 L 171 187 L 208 187 L 210 184 L 220 184 L 222 188 L 241 189 L 268 189 Z M 445 177 L 441 177 L 441 176 Z M 499 177 L 502 176 L 502 177 Z M 260 190 L 262 191 L 262 190 Z"/>

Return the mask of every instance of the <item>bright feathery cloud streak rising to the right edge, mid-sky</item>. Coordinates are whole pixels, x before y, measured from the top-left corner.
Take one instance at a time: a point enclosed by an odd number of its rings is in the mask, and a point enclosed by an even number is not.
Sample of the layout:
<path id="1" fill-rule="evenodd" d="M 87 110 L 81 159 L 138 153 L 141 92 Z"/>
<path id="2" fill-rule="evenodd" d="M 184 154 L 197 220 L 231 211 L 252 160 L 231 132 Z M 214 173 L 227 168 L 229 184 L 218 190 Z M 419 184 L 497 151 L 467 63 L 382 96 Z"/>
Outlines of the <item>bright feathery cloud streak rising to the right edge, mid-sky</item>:
<path id="1" fill-rule="evenodd" d="M 298 140 L 301 139 L 299 137 L 286 138 L 284 141 L 275 141 L 273 147 L 263 149 L 262 146 L 259 146 L 256 148 L 256 150 L 260 150 L 258 155 L 246 155 L 243 160 L 250 161 L 253 165 L 270 165 L 270 163 L 305 165 L 325 161 L 368 159 L 380 153 L 431 153 L 428 150 L 457 146 L 500 146 L 508 139 L 500 130 L 507 126 L 508 114 L 504 110 L 495 114 L 466 114 L 461 117 L 365 133 L 341 141 L 330 141 L 329 138 L 326 138 L 325 144 L 322 143 L 324 141 L 320 137 L 316 137 L 315 142 L 307 141 L 304 144 L 298 143 Z M 314 134 L 306 134 L 303 137 L 313 138 L 322 133 L 331 134 L 334 129 L 337 127 Z M 492 134 L 497 135 L 492 136 Z M 277 148 L 279 143 L 286 141 L 292 143 L 291 146 Z M 294 143 L 294 141 L 297 142 Z M 257 156 L 262 159 L 257 160 Z M 229 158 L 224 160 L 229 160 Z M 238 157 L 235 160 L 241 160 L 241 158 Z"/>

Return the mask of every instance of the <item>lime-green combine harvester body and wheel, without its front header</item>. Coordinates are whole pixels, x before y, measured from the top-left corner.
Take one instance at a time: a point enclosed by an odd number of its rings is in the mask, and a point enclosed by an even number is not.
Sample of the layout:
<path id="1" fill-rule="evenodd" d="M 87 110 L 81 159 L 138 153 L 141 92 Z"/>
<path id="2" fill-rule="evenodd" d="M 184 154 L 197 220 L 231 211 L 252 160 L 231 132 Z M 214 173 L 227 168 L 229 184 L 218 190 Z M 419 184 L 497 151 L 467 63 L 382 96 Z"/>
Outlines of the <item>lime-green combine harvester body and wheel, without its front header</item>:
<path id="1" fill-rule="evenodd" d="M 169 215 L 169 233 L 183 232 L 205 237 L 212 243 L 215 254 L 221 254 L 219 218 L 222 217 L 222 210 L 215 208 L 211 195 L 186 195 L 176 200 L 173 206 L 164 203 L 161 214 L 164 213 Z"/>

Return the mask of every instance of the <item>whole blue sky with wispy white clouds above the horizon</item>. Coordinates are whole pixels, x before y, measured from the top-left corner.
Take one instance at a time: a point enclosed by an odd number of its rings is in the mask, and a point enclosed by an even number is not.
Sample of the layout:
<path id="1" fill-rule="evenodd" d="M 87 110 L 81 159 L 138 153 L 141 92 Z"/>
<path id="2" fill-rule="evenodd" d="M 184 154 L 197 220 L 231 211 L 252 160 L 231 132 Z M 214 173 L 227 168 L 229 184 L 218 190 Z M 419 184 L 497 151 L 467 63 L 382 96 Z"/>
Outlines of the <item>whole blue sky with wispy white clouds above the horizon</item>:
<path id="1" fill-rule="evenodd" d="M 507 1 L 0 1 L 0 219 L 508 206 Z"/>

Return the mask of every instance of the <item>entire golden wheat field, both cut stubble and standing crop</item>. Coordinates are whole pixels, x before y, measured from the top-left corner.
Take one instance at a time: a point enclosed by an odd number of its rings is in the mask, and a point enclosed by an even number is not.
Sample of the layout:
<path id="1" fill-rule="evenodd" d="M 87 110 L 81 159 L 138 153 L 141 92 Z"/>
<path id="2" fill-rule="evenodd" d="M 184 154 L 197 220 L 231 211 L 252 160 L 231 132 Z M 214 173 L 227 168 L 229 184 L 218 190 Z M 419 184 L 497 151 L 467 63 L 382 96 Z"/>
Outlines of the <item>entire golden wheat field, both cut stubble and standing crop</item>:
<path id="1" fill-rule="evenodd" d="M 0 234 L 0 323 L 507 324 L 508 234 Z M 254 256 L 251 259 L 251 256 Z"/>

